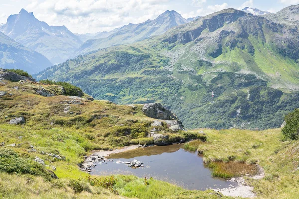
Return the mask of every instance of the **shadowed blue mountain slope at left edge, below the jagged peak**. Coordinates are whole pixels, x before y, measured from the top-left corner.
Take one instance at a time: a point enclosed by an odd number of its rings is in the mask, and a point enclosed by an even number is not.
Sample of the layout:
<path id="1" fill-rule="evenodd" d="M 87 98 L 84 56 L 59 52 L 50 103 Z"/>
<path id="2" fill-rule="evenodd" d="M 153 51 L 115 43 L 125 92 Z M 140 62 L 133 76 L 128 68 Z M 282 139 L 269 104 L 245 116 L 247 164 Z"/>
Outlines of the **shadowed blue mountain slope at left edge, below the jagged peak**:
<path id="1" fill-rule="evenodd" d="M 17 43 L 0 32 L 0 68 L 40 72 L 52 63 L 42 54 Z"/>

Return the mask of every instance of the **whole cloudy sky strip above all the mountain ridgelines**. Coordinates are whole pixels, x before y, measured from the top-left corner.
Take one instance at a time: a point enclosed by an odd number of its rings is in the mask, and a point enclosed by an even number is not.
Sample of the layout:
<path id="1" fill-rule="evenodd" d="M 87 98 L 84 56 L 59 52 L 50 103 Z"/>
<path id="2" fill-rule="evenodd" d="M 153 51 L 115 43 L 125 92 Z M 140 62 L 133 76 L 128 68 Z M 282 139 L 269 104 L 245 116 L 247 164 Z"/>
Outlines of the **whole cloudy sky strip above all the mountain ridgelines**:
<path id="1" fill-rule="evenodd" d="M 166 10 L 189 18 L 225 8 L 277 12 L 295 4 L 299 0 L 0 0 L 0 24 L 24 8 L 49 25 L 65 25 L 73 33 L 84 34 L 142 23 Z"/>

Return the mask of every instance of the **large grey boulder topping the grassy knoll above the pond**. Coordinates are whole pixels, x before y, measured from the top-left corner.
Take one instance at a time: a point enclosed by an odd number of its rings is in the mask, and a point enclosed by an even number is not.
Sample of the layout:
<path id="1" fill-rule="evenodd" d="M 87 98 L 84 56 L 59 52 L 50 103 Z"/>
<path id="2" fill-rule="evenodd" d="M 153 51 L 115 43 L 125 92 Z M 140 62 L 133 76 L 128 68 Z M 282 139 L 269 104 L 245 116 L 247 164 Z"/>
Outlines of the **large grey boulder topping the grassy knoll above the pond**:
<path id="1" fill-rule="evenodd" d="M 177 117 L 172 114 L 169 110 L 164 108 L 160 103 L 149 103 L 145 104 L 142 108 L 142 111 L 151 118 L 154 119 L 177 119 Z"/>

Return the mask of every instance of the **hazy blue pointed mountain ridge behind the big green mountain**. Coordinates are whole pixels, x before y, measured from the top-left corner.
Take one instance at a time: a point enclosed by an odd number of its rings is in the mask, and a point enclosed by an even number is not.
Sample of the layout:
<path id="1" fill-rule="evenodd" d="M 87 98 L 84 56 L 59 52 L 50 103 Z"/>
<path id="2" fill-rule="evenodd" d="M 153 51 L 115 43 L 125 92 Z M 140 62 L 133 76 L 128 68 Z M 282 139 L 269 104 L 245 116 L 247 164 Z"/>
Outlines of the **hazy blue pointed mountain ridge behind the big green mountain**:
<path id="1" fill-rule="evenodd" d="M 82 44 L 76 54 L 82 55 L 101 48 L 140 41 L 151 36 L 163 34 L 170 28 L 187 22 L 188 21 L 176 11 L 168 10 L 154 20 L 147 20 L 139 24 L 130 23 L 129 25 L 125 25 L 107 38 L 99 37 L 99 39 L 88 40 Z"/>

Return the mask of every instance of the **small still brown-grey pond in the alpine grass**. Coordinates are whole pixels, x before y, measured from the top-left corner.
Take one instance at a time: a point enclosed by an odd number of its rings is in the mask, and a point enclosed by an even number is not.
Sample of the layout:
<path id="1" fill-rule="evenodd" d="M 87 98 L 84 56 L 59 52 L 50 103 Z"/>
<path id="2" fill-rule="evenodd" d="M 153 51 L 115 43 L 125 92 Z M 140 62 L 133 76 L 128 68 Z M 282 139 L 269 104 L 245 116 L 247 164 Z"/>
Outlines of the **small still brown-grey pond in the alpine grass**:
<path id="1" fill-rule="evenodd" d="M 181 148 L 182 145 L 151 146 L 142 149 L 111 154 L 105 163 L 95 163 L 94 175 L 132 174 L 138 177 L 153 177 L 190 190 L 228 188 L 232 182 L 214 178 L 204 166 L 203 159 L 196 152 Z M 143 167 L 131 168 L 117 161 L 127 162 L 136 159 Z M 113 160 L 113 161 L 111 161 Z"/>

